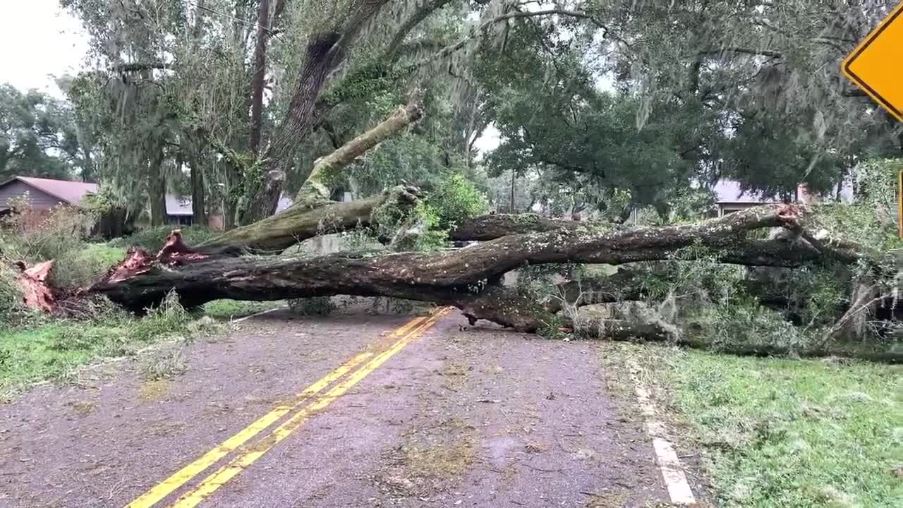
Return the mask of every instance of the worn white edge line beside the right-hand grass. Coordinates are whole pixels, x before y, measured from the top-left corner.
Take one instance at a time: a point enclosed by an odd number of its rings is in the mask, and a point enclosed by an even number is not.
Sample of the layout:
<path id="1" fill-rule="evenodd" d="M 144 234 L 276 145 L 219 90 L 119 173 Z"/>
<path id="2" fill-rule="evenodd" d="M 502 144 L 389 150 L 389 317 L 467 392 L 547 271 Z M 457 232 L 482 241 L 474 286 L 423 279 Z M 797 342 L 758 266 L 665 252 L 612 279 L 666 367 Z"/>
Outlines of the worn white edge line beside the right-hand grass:
<path id="1" fill-rule="evenodd" d="M 637 372 L 639 368 L 636 364 L 630 365 L 630 377 L 633 378 L 634 386 L 637 390 L 637 400 L 639 402 L 639 410 L 643 413 L 646 420 L 646 430 L 652 437 L 652 447 L 656 451 L 656 462 L 658 468 L 662 470 L 662 477 L 668 489 L 668 495 L 671 496 L 671 503 L 675 504 L 695 504 L 696 498 L 693 490 L 690 488 L 689 482 L 686 481 L 684 475 L 684 466 L 677 457 L 675 447 L 667 439 L 665 425 L 656 418 L 656 405 L 649 398 L 649 391 L 639 381 Z"/>

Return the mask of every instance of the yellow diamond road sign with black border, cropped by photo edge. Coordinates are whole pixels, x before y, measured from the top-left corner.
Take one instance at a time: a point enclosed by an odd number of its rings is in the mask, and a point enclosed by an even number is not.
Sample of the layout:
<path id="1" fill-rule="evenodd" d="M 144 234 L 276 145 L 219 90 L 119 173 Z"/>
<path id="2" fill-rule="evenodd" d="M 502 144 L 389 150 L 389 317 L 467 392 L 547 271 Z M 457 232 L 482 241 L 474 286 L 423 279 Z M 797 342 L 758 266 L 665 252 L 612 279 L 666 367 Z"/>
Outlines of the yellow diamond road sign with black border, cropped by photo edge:
<path id="1" fill-rule="evenodd" d="M 903 4 L 843 60 L 843 74 L 903 121 Z"/>

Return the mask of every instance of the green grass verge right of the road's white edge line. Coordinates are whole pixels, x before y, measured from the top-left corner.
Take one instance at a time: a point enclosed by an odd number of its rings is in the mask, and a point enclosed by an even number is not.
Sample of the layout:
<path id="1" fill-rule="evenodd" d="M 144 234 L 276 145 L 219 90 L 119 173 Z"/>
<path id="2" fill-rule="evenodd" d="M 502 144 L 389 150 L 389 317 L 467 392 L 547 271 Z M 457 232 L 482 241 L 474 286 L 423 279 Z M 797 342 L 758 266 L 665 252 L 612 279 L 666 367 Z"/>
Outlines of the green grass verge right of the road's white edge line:
<path id="1" fill-rule="evenodd" d="M 723 505 L 903 505 L 899 366 L 613 347 L 659 380 Z"/>

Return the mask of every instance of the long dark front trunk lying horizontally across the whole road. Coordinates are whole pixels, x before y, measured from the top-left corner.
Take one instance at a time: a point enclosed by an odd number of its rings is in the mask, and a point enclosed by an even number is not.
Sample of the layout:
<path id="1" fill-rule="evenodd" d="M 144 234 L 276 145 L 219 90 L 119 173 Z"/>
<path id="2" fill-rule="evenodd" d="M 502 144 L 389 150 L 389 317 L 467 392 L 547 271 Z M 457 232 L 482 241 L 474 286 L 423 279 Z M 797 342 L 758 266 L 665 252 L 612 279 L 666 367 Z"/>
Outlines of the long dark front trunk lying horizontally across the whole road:
<path id="1" fill-rule="evenodd" d="M 144 255 L 144 260 L 126 263 L 91 290 L 138 309 L 154 305 L 172 289 L 190 306 L 217 298 L 276 300 L 332 295 L 396 296 L 471 306 L 474 298 L 484 296 L 484 288 L 495 287 L 494 282 L 507 271 L 526 264 L 618 265 L 671 259 L 691 246 L 695 249 L 689 251 L 690 255 L 705 248 L 722 262 L 754 266 L 794 267 L 824 259 L 823 252 L 803 243 L 745 237 L 749 230 L 796 227 L 798 212 L 793 206 L 774 205 L 686 226 L 613 231 L 584 227 L 524 233 L 433 254 L 342 253 L 317 258 L 260 259 L 226 258 L 215 249 L 190 251 L 180 247 L 180 251 L 191 252 L 191 258 L 167 259 L 161 255 L 159 262 L 154 262 Z M 140 253 L 133 253 L 137 254 Z M 851 260 L 858 260 L 861 255 L 843 253 Z M 483 317 L 479 308 L 472 314 Z"/>

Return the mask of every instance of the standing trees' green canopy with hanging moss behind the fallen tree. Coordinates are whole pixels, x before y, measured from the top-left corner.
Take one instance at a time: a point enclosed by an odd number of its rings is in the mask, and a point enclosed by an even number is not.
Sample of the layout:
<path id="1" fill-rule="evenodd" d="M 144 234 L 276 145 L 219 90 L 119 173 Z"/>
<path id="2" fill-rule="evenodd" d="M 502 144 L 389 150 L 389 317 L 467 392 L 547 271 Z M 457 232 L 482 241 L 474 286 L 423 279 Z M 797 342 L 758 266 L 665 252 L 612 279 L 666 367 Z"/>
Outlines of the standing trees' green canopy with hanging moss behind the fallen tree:
<path id="1" fill-rule="evenodd" d="M 830 193 L 862 160 L 903 150 L 898 123 L 837 71 L 889 12 L 880 2 L 61 5 L 85 25 L 93 69 L 61 82 L 69 101 L 3 89 L 0 170 L 149 196 L 156 221 L 167 190 L 191 194 L 196 220 L 265 217 L 318 158 L 413 95 L 424 119 L 331 192 L 461 174 L 507 201 L 513 179 L 523 206 L 619 217 L 666 212 L 720 179 Z M 480 155 L 487 129 L 499 143 Z"/>

